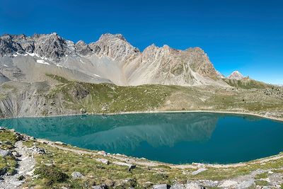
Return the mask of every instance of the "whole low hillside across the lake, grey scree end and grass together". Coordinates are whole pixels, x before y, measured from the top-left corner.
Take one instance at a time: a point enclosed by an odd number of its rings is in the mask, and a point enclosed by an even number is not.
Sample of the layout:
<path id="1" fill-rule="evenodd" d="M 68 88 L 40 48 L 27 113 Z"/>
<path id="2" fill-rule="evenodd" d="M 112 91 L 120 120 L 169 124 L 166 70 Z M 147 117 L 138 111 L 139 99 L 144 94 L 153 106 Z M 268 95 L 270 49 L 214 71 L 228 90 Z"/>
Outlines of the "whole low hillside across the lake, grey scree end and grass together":
<path id="1" fill-rule="evenodd" d="M 283 117 L 283 88 L 278 86 L 116 86 L 47 77 L 56 84 L 46 81 L 2 84 L 1 117 L 168 110 L 218 110 Z"/>

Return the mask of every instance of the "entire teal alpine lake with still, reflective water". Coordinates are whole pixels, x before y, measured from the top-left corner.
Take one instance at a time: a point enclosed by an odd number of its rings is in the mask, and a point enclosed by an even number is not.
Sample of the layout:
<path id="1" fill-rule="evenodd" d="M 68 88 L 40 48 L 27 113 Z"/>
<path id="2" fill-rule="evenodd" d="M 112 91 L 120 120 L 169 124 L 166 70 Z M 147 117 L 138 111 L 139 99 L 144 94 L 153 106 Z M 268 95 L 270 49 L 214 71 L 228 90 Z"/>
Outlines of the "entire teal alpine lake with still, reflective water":
<path id="1" fill-rule="evenodd" d="M 85 149 L 173 164 L 228 164 L 283 151 L 283 122 L 247 115 L 77 115 L 0 120 L 0 126 Z"/>

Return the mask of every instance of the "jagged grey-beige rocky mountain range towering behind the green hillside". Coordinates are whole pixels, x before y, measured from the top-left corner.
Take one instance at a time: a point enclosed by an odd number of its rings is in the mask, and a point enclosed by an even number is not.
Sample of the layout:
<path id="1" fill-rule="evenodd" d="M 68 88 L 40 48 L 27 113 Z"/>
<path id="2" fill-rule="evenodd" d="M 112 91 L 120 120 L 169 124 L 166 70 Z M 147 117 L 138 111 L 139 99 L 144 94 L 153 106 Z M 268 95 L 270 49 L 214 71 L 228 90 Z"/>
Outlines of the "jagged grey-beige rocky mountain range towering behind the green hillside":
<path id="1" fill-rule="evenodd" d="M 0 61 L 3 65 L 11 64 L 13 69 L 19 69 L 20 72 L 25 72 L 25 75 L 34 73 L 26 73 L 27 71 L 15 62 L 35 62 L 37 67 L 45 67 L 44 69 L 56 66 L 58 69 L 74 70 L 75 74 L 91 77 L 88 80 L 94 83 L 109 81 L 118 85 L 225 85 L 219 80 L 221 76 L 199 47 L 183 51 L 167 45 L 151 45 L 144 52 L 140 52 L 120 34 L 104 34 L 98 41 L 90 44 L 64 40 L 57 33 L 31 37 L 2 35 Z M 7 72 L 7 69 L 4 69 L 5 71 Z M 4 73 L 0 71 L 0 74 Z M 25 77 L 27 76 L 23 76 Z M 30 80 L 38 81 L 37 78 Z"/>

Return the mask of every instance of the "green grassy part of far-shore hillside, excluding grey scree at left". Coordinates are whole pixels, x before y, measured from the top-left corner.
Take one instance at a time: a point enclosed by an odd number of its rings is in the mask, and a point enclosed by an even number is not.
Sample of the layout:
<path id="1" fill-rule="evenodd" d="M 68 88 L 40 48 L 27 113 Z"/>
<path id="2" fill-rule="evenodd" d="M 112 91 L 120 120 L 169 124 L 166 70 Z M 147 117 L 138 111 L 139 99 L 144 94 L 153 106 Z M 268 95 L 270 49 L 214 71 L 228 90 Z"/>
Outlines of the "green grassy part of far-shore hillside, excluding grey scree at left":
<path id="1" fill-rule="evenodd" d="M 265 114 L 283 117 L 283 89 L 261 83 L 235 88 L 216 86 L 116 86 L 114 84 L 87 84 L 60 81 L 52 87 L 47 98 L 61 102 L 70 110 L 87 113 L 121 113 L 150 110 L 224 110 Z M 236 81 L 235 81 L 236 82 Z M 238 81 L 237 81 L 238 82 Z M 247 89 L 248 88 L 248 89 Z"/>

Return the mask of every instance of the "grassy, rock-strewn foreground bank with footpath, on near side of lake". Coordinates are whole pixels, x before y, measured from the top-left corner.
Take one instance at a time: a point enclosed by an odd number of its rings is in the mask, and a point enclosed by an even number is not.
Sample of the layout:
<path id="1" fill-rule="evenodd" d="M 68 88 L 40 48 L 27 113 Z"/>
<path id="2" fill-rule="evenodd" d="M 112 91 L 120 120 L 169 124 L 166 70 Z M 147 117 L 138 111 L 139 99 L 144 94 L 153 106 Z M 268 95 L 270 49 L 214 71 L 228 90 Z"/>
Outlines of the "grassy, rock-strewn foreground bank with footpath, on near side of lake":
<path id="1" fill-rule="evenodd" d="M 241 164 L 163 164 L 0 128 L 0 188 L 282 188 L 283 154 Z"/>

